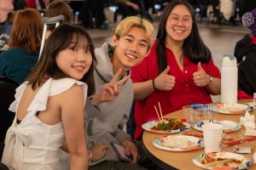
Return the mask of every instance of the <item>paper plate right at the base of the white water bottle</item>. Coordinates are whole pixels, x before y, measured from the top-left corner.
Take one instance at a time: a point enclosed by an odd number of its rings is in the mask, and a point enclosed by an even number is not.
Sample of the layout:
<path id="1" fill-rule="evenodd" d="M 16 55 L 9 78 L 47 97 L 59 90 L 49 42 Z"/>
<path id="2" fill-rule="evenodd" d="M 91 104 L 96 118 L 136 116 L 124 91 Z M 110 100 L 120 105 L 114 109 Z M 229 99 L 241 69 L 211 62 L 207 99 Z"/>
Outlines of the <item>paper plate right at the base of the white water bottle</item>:
<path id="1" fill-rule="evenodd" d="M 243 104 L 217 104 L 218 108 L 212 108 L 212 111 L 216 111 L 222 114 L 236 115 L 245 113 L 248 105 Z"/>

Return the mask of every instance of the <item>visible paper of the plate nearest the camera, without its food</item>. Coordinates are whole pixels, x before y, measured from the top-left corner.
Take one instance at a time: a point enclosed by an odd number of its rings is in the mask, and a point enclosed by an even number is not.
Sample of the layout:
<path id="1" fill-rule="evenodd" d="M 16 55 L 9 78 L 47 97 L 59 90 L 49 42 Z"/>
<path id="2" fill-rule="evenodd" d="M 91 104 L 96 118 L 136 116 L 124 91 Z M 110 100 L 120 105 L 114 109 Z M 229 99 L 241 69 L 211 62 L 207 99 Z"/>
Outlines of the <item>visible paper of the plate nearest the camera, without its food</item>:
<path id="1" fill-rule="evenodd" d="M 217 153 L 201 154 L 199 156 L 196 156 L 193 159 L 193 162 L 195 163 L 196 166 L 201 167 L 204 164 L 202 164 L 200 162 L 200 160 L 204 157 L 206 158 L 207 156 L 212 157 L 214 159 L 217 159 L 217 158 L 223 158 L 223 159 L 224 158 L 235 158 L 237 161 L 241 161 L 241 164 L 236 164 L 236 165 L 231 166 L 234 169 L 247 169 L 247 167 L 249 167 L 252 164 L 252 161 L 248 157 L 242 156 L 240 154 L 232 153 L 232 152 L 217 152 Z M 212 167 L 207 167 L 207 169 L 212 169 Z"/>

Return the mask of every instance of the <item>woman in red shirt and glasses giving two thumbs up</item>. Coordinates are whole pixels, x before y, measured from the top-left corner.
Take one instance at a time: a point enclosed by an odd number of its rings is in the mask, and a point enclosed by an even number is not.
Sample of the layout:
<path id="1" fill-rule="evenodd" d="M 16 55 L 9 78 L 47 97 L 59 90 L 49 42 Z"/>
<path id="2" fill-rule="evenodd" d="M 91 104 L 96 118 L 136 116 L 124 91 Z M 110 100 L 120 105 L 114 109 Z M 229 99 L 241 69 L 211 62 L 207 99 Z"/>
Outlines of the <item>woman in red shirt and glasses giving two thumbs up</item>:
<path id="1" fill-rule="evenodd" d="M 135 139 L 142 139 L 142 125 L 183 105 L 212 103 L 220 94 L 220 72 L 212 54 L 201 40 L 194 8 L 184 0 L 169 3 L 160 18 L 150 54 L 131 68 L 135 104 Z"/>

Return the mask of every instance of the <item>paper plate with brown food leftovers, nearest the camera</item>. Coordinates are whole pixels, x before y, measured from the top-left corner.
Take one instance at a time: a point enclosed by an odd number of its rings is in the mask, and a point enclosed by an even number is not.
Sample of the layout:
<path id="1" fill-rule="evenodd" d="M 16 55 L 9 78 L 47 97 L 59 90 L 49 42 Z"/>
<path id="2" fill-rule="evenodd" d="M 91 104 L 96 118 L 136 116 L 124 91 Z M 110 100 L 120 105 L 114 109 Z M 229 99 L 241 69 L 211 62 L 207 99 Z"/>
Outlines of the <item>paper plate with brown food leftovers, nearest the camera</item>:
<path id="1" fill-rule="evenodd" d="M 230 161 L 229 161 L 230 160 Z M 218 162 L 219 161 L 219 162 Z M 224 162 L 226 161 L 226 162 Z M 212 169 L 213 167 L 230 167 L 232 169 L 247 169 L 252 164 L 246 156 L 232 152 L 215 152 L 196 156 L 193 159 L 196 166 L 205 169 Z M 223 163 L 221 163 L 223 162 Z"/>

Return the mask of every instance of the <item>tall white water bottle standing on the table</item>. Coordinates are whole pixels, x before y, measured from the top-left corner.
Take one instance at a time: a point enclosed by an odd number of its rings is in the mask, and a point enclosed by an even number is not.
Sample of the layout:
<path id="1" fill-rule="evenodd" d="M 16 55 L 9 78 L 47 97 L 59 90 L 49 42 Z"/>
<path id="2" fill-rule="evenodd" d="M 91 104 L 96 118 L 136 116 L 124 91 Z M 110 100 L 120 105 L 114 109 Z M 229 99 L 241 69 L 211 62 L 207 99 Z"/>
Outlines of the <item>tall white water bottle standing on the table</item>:
<path id="1" fill-rule="evenodd" d="M 221 68 L 221 103 L 237 103 L 237 77 L 236 57 L 224 54 Z"/>

